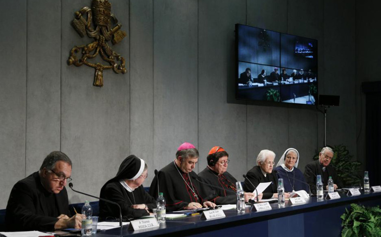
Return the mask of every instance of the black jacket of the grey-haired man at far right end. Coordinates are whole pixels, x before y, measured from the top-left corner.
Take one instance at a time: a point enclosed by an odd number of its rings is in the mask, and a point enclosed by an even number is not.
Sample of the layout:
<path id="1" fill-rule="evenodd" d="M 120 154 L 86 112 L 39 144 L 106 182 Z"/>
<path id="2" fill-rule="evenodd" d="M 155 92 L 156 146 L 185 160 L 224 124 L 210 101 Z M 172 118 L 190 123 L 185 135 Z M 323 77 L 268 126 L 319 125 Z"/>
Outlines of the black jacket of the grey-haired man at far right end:
<path id="1" fill-rule="evenodd" d="M 337 188 L 340 189 L 343 187 L 343 184 L 340 180 L 340 178 L 337 176 L 336 171 L 331 165 L 327 166 L 326 172 L 328 172 L 327 178 L 324 178 L 324 173 L 322 166 L 320 165 L 319 160 L 315 160 L 312 162 L 309 162 L 305 169 L 304 169 L 304 177 L 306 178 L 306 182 L 311 187 L 311 192 L 316 194 L 316 179 L 317 175 L 320 174 L 323 179 L 323 190 L 326 190 L 326 186 L 328 185 L 328 177 L 332 176 L 333 183 L 337 185 Z"/>

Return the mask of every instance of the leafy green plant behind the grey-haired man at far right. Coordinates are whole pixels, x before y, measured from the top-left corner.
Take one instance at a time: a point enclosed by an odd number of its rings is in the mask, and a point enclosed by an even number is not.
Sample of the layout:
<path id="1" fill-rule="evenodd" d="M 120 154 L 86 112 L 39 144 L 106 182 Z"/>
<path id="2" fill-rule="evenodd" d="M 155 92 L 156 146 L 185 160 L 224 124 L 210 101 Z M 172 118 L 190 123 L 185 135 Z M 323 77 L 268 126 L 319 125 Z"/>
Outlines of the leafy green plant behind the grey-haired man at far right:
<path id="1" fill-rule="evenodd" d="M 352 160 L 353 156 L 349 154 L 346 146 L 342 144 L 333 146 L 332 148 L 334 154 L 331 164 L 337 167 L 337 176 L 343 182 L 344 187 L 358 186 L 361 184 L 362 176 L 359 175 L 361 172 L 361 162 Z M 322 148 L 317 151 L 314 160 L 319 159 L 319 152 L 321 150 Z"/>

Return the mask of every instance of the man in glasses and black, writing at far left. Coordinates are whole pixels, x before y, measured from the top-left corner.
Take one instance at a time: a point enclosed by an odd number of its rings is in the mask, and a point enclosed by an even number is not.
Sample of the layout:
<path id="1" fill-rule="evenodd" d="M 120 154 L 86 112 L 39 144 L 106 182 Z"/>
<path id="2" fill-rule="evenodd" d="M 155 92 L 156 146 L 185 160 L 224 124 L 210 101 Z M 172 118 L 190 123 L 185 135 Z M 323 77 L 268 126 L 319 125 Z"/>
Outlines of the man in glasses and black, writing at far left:
<path id="1" fill-rule="evenodd" d="M 72 163 L 62 152 L 51 152 L 40 170 L 18 181 L 9 195 L 5 223 L 8 231 L 54 231 L 81 228 L 82 215 L 70 216 L 65 185 Z"/>

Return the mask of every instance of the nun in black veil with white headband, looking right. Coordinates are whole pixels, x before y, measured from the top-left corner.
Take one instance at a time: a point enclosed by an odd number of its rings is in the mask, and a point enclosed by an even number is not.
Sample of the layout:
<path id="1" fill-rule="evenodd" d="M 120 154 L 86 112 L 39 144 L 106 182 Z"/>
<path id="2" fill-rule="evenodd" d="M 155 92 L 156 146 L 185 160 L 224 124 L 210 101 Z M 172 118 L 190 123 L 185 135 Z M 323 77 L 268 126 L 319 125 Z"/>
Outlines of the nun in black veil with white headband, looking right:
<path id="1" fill-rule="evenodd" d="M 147 216 L 156 208 L 156 200 L 144 191 L 142 184 L 146 178 L 147 164 L 143 159 L 131 155 L 120 164 L 116 176 L 103 185 L 100 197 L 118 203 L 124 220 Z M 99 201 L 99 219 L 118 218 L 117 205 Z"/>

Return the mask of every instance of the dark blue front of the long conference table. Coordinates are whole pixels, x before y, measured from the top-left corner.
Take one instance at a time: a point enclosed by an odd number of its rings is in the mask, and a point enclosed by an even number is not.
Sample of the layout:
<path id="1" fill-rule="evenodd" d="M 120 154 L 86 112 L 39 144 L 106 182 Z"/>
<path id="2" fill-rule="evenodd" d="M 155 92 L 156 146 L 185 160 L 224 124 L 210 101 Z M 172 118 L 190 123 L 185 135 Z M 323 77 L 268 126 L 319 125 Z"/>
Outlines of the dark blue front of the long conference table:
<path id="1" fill-rule="evenodd" d="M 340 194 L 339 199 L 321 200 L 312 197 L 307 203 L 279 208 L 271 203 L 272 210 L 252 211 L 246 207 L 245 213 L 238 214 L 236 209 L 225 210 L 225 218 L 203 220 L 200 215 L 182 219 L 167 220 L 160 227 L 132 231 L 128 226 L 98 232 L 95 237 L 151 237 L 151 236 L 194 236 L 194 237 L 339 237 L 341 219 L 345 208 L 351 203 L 365 206 L 381 204 L 381 193 L 349 196 Z"/>

